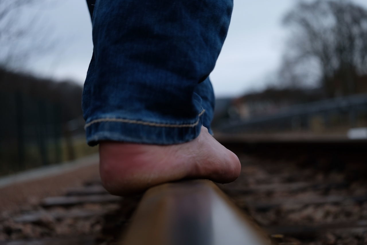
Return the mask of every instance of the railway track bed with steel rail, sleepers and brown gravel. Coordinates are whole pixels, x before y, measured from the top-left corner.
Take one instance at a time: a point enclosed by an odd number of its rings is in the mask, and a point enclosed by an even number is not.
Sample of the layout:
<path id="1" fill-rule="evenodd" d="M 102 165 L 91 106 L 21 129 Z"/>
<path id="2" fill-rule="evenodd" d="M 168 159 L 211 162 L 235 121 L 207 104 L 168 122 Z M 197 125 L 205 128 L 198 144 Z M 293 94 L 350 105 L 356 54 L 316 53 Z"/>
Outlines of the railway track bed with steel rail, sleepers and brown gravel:
<path id="1" fill-rule="evenodd" d="M 217 185 L 227 197 L 211 182 L 188 181 L 152 188 L 143 199 L 120 198 L 91 180 L 3 215 L 0 244 L 222 244 L 219 238 L 231 237 L 240 240 L 228 244 L 266 244 L 261 232 L 279 245 L 367 244 L 366 142 L 221 141 L 242 164 L 237 181 Z M 218 218 L 214 207 L 226 198 L 251 221 L 230 204 L 221 204 L 229 213 Z M 228 221 L 230 212 L 242 218 Z"/>

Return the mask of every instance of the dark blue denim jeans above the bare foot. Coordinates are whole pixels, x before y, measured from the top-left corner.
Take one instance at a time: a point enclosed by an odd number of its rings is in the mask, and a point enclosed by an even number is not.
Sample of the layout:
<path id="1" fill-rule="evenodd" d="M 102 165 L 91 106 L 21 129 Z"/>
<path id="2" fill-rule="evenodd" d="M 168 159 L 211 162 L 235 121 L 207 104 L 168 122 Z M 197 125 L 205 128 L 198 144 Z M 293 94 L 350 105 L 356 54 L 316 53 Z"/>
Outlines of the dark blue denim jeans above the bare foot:
<path id="1" fill-rule="evenodd" d="M 89 145 L 170 145 L 208 128 L 208 78 L 233 0 L 87 0 L 94 51 L 83 90 Z M 94 5 L 95 4 L 95 5 Z"/>

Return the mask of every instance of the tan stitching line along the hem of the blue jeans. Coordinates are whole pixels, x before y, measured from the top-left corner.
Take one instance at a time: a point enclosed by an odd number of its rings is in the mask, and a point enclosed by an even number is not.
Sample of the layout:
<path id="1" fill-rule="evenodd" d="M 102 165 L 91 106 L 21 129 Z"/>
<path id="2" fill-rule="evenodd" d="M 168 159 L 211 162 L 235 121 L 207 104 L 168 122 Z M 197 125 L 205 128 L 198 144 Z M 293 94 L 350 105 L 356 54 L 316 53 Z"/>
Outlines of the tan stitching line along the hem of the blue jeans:
<path id="1" fill-rule="evenodd" d="M 198 117 L 203 115 L 205 110 L 203 109 Z M 123 119 L 123 118 L 100 118 L 92 120 L 90 123 L 87 123 L 84 126 L 84 129 L 89 127 L 92 124 L 95 123 L 102 123 L 102 122 L 115 122 L 115 123 L 133 123 L 133 124 L 141 124 L 146 126 L 153 126 L 153 127 L 169 127 L 169 128 L 186 128 L 186 127 L 195 127 L 197 124 L 199 124 L 200 118 L 197 119 L 195 123 L 192 124 L 164 124 L 164 123 L 151 123 L 151 122 L 145 122 L 145 121 L 138 121 L 138 120 L 131 120 L 131 119 Z"/>

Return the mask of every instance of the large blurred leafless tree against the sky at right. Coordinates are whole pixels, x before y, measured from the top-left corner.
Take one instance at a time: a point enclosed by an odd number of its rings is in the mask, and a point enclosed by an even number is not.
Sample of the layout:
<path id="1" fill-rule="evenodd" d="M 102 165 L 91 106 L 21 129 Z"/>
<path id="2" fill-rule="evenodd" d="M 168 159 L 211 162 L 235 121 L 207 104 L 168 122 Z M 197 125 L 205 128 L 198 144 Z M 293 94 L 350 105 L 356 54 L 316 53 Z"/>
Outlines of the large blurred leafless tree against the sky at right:
<path id="1" fill-rule="evenodd" d="M 367 10 L 349 0 L 300 1 L 283 19 L 292 30 L 280 75 L 316 80 L 327 96 L 358 92 L 367 74 Z"/>

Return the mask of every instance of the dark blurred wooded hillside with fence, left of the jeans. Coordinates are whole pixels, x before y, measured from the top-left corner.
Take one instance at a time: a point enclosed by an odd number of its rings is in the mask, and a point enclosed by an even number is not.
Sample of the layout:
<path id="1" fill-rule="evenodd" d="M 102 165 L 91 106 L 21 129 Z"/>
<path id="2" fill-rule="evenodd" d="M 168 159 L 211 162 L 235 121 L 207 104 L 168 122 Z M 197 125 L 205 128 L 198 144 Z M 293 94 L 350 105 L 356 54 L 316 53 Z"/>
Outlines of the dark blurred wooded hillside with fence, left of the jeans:
<path id="1" fill-rule="evenodd" d="M 92 152 L 84 139 L 80 85 L 0 68 L 0 175 Z"/>

